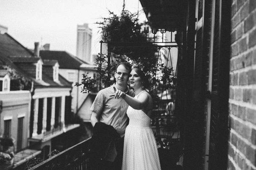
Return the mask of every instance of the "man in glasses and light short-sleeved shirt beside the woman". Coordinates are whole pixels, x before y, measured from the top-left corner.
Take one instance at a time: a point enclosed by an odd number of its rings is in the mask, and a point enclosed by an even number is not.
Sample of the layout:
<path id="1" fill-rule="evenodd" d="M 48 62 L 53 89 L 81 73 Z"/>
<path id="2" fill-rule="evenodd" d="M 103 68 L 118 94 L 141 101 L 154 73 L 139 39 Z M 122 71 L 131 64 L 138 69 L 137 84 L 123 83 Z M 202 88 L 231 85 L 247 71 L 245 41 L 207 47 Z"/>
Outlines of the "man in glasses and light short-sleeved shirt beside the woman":
<path id="1" fill-rule="evenodd" d="M 135 93 L 132 90 L 129 90 L 127 86 L 130 72 L 131 66 L 128 63 L 117 64 L 116 72 L 114 73 L 116 84 L 99 91 L 90 108 L 92 111 L 91 124 L 93 127 L 97 122 L 106 123 L 113 126 L 121 137 L 121 140 L 116 146 L 117 155 L 114 162 L 103 162 L 103 167 L 106 169 L 120 170 L 122 167 L 124 133 L 129 122 L 126 114 L 128 104 L 124 99 L 117 100 L 114 97 L 109 97 L 109 95 L 116 92 L 116 90 L 121 90 L 127 95 L 134 97 Z"/>

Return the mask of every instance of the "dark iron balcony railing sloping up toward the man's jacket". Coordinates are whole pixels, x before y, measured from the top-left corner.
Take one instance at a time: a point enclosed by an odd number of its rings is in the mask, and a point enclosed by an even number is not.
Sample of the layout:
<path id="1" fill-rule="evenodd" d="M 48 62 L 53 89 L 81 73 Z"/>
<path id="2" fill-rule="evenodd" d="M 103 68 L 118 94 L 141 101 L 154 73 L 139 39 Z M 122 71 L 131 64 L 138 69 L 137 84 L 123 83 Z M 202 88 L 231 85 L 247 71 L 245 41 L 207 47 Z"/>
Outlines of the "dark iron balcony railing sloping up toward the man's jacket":
<path id="1" fill-rule="evenodd" d="M 80 142 L 29 170 L 89 170 L 89 142 Z"/>

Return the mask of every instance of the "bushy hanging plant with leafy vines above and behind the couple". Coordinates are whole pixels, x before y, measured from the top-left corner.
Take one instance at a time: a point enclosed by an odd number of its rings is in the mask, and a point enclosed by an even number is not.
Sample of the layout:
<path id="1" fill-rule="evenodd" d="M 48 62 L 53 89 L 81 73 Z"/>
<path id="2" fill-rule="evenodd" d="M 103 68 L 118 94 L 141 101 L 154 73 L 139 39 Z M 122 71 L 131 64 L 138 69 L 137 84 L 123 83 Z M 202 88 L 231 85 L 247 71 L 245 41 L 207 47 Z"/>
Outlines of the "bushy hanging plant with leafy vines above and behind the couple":
<path id="1" fill-rule="evenodd" d="M 131 13 L 127 10 L 123 10 L 120 16 L 110 11 L 109 15 L 103 17 L 103 21 L 97 24 L 102 30 L 102 39 L 108 42 L 110 56 L 99 54 L 95 62 L 97 77 L 91 78 L 85 73 L 81 82 L 76 82 L 75 86 L 82 86 L 83 93 L 94 91 L 101 83 L 109 87 L 114 83 L 111 78 L 114 76 L 117 63 L 128 62 L 131 66 L 139 66 L 147 74 L 151 95 L 156 96 L 158 84 L 162 82 L 163 88 L 169 88 L 172 83 L 172 68 L 158 63 L 156 57 L 158 49 L 153 43 L 147 43 L 153 39 L 153 36 L 149 36 L 150 25 L 147 22 L 139 22 L 139 13 Z M 141 29 L 143 26 L 144 31 Z"/>

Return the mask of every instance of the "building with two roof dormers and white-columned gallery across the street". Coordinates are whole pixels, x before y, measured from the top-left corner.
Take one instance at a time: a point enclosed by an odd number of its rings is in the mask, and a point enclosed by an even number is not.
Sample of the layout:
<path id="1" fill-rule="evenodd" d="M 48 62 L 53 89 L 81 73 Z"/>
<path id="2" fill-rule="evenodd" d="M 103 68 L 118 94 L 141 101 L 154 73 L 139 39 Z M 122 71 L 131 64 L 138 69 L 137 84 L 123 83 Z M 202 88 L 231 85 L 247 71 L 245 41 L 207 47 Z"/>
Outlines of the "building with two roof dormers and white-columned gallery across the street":
<path id="1" fill-rule="evenodd" d="M 15 139 L 12 168 L 23 169 L 31 157 L 47 159 L 52 150 L 78 142 L 72 83 L 59 67 L 57 60 L 39 56 L 39 43 L 33 53 L 8 33 L 0 34 L 0 135 Z"/>

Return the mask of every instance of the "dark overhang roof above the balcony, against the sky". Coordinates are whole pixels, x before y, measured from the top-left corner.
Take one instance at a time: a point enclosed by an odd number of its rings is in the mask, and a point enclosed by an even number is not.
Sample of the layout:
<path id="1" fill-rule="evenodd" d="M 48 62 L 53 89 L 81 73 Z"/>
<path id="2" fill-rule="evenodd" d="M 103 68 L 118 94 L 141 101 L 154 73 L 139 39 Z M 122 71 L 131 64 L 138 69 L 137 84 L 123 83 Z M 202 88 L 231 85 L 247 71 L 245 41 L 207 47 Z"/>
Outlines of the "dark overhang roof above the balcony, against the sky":
<path id="1" fill-rule="evenodd" d="M 152 27 L 181 30 L 185 0 L 140 0 L 140 3 Z"/>

